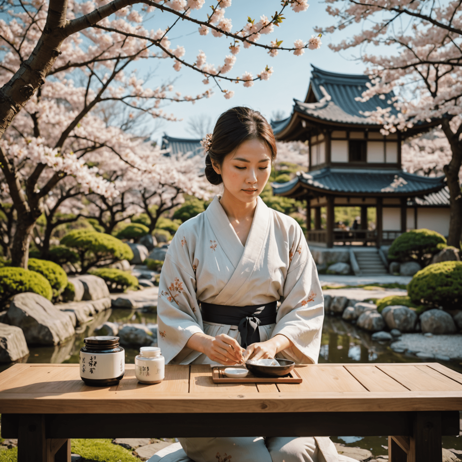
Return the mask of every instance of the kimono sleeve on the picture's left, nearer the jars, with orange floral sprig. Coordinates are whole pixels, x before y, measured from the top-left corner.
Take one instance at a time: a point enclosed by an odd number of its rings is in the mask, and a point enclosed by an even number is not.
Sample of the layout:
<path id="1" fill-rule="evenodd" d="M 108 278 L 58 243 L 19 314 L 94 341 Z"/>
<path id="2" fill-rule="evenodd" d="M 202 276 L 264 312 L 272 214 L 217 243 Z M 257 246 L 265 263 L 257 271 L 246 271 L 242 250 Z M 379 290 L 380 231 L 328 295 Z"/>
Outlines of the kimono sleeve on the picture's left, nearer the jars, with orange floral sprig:
<path id="1" fill-rule="evenodd" d="M 193 334 L 204 331 L 196 298 L 195 271 L 188 249 L 176 237 L 160 274 L 157 319 L 158 346 L 166 364 L 189 364 L 199 357 L 200 352 L 186 347 Z"/>

